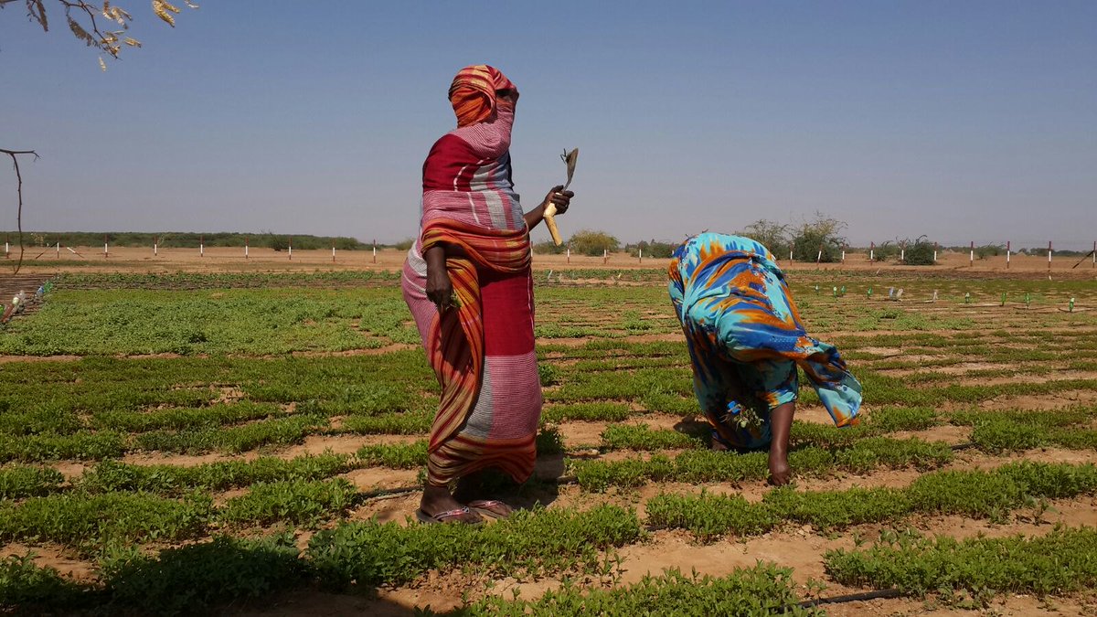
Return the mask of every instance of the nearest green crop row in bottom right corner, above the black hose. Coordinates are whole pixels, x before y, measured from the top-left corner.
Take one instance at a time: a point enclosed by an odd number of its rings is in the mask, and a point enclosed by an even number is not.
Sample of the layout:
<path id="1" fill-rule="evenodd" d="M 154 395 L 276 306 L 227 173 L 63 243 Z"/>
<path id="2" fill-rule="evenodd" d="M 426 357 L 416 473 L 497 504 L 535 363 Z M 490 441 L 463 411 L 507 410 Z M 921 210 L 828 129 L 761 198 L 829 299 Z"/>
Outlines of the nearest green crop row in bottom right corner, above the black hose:
<path id="1" fill-rule="evenodd" d="M 924 595 L 941 590 L 1064 594 L 1097 585 L 1097 530 L 1056 528 L 1042 537 L 940 537 L 835 550 L 827 572 L 846 585 Z"/>

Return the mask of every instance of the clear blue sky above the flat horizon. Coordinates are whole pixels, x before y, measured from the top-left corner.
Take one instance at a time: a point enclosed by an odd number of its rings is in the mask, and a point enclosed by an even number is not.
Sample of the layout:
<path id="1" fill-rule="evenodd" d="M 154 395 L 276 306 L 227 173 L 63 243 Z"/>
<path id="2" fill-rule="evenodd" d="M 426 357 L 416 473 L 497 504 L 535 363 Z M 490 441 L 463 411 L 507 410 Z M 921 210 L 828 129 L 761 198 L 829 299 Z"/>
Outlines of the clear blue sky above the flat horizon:
<path id="1" fill-rule="evenodd" d="M 412 236 L 450 80 L 487 63 L 522 92 L 527 207 L 580 148 L 565 235 L 819 211 L 857 244 L 1097 239 L 1094 1 L 206 0 L 174 30 L 120 2 L 145 47 L 106 72 L 53 0 L 49 33 L 0 10 L 25 228 Z"/>

